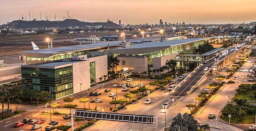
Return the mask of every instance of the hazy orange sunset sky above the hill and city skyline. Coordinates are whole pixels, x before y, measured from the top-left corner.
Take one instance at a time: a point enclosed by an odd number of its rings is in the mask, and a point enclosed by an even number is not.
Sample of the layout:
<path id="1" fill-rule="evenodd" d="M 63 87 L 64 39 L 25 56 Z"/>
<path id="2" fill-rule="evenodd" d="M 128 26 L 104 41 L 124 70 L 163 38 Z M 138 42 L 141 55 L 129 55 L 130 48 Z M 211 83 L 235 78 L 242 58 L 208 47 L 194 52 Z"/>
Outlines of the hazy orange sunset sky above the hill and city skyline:
<path id="1" fill-rule="evenodd" d="M 256 21 L 256 0 L 0 0 L 0 25 L 26 17 L 122 24 L 228 24 Z"/>

